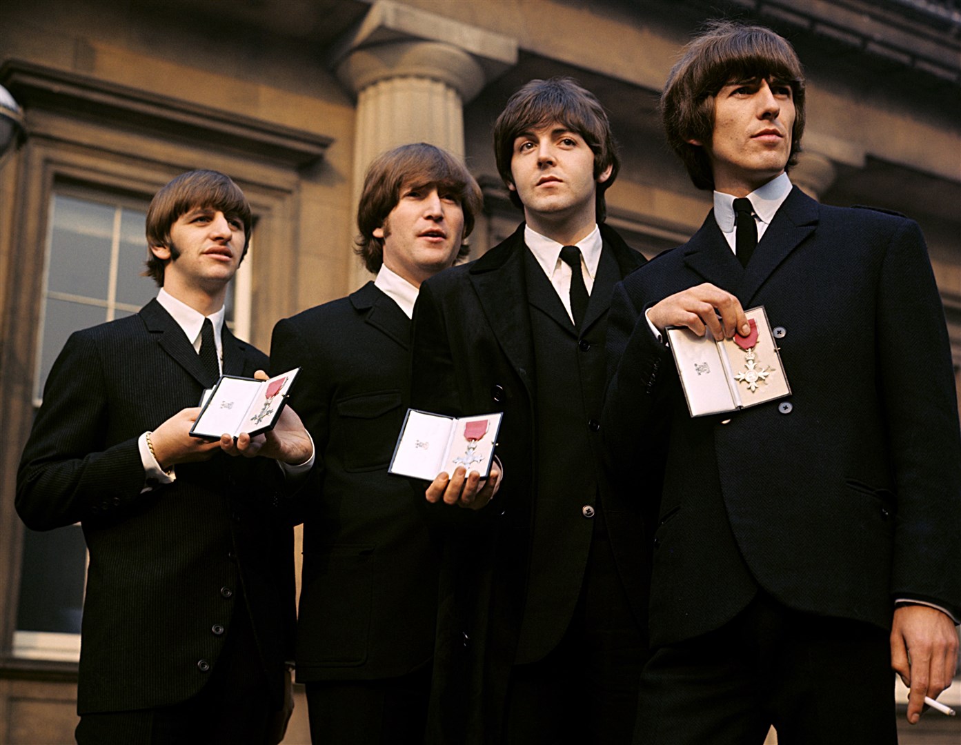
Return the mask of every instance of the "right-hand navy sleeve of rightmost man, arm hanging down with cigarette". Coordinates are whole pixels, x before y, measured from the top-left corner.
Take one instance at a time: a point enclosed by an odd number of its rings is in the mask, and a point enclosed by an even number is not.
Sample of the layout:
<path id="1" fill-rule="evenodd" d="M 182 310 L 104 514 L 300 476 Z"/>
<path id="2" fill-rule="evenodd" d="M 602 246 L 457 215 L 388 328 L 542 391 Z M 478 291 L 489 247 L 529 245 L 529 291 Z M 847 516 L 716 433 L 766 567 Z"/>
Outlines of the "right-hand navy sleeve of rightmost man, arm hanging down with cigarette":
<path id="1" fill-rule="evenodd" d="M 889 236 L 875 343 L 898 506 L 892 598 L 961 618 L 961 435 L 944 310 L 917 223 Z"/>

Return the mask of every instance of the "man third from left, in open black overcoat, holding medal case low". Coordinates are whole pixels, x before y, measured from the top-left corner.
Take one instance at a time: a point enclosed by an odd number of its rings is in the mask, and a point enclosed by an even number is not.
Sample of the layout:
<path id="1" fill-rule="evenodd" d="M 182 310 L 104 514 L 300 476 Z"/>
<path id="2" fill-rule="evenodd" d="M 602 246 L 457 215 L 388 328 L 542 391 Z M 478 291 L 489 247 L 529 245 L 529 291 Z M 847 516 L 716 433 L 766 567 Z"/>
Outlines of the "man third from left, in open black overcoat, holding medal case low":
<path id="1" fill-rule="evenodd" d="M 414 312 L 412 405 L 504 411 L 503 487 L 451 515 L 429 734 L 624 742 L 646 657 L 646 559 L 638 511 L 604 478 L 598 421 L 610 293 L 644 259 L 604 225 L 618 160 L 591 93 L 531 81 L 494 141 L 526 223 L 426 282 Z M 492 491 L 463 467 L 446 476 L 430 501 L 478 508 Z"/>

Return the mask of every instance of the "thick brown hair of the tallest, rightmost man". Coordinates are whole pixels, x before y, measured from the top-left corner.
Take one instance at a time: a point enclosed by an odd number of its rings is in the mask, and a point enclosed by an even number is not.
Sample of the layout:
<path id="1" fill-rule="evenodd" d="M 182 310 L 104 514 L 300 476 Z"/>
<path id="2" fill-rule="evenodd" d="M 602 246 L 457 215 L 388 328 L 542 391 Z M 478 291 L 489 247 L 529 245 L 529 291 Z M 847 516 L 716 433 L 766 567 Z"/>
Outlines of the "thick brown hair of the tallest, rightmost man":
<path id="1" fill-rule="evenodd" d="M 795 119 L 787 168 L 798 163 L 804 134 L 804 72 L 787 39 L 763 26 L 711 21 L 684 47 L 661 94 L 661 115 L 668 144 L 687 168 L 694 186 L 714 188 L 707 152 L 688 140 L 710 142 L 714 97 L 731 81 L 776 80 L 791 87 Z"/>

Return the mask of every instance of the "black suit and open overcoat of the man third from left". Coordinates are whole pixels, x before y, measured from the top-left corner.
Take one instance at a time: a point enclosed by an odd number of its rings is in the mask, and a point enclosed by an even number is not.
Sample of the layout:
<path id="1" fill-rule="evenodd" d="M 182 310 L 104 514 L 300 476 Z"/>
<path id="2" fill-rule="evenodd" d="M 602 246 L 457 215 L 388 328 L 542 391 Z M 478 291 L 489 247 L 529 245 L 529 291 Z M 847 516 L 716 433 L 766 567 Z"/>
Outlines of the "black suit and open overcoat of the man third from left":
<path id="1" fill-rule="evenodd" d="M 550 657 L 558 644 L 567 648 L 561 641 L 584 605 L 598 534 L 601 559 L 620 576 L 602 594 L 617 596 L 612 603 L 623 605 L 632 630 L 643 623 L 642 523 L 601 473 L 596 418 L 611 287 L 644 259 L 604 226 L 602 235 L 579 332 L 532 261 L 523 226 L 480 260 L 421 286 L 412 406 L 455 415 L 505 412 L 498 437 L 503 487 L 478 514 L 447 510 L 461 524 L 442 569 L 433 740 L 500 740 L 515 662 Z M 545 388 L 569 393 L 570 402 L 549 399 Z M 554 436 L 559 431 L 571 436 Z M 595 509 L 599 520 L 592 520 Z M 628 598 L 635 602 L 633 617 Z M 556 724 L 584 718 L 568 709 Z M 510 727 L 507 736 L 517 736 Z"/>

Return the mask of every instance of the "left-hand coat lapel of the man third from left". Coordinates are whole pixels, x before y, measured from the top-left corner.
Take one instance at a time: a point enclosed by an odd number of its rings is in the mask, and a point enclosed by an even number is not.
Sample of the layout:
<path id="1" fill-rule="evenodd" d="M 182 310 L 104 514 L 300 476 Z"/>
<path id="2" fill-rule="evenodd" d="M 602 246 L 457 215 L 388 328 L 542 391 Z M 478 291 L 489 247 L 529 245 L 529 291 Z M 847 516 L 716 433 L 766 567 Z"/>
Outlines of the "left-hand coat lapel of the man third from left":
<path id="1" fill-rule="evenodd" d="M 533 334 L 523 261 L 527 250 L 522 223 L 501 245 L 471 264 L 468 276 L 491 331 L 532 395 Z"/>

